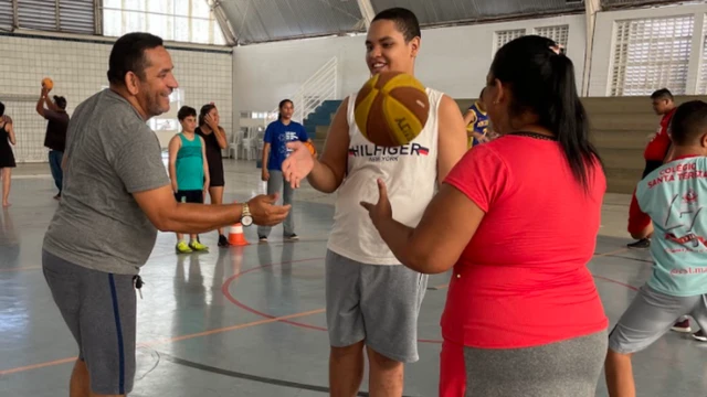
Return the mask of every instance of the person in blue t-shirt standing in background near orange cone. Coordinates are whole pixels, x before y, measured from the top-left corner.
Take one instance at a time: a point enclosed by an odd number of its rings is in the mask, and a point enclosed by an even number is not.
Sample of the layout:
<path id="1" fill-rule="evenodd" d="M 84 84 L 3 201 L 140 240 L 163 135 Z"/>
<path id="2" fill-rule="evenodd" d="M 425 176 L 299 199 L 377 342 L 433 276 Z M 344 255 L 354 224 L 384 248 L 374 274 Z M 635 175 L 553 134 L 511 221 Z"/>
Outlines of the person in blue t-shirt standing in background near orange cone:
<path id="1" fill-rule="evenodd" d="M 279 192 L 284 187 L 283 203 L 291 204 L 294 195 L 294 190 L 289 183 L 284 183 L 285 179 L 282 172 L 283 161 L 289 155 L 292 149 L 287 148 L 287 142 L 303 141 L 312 143 L 307 131 L 299 122 L 292 120 L 292 115 L 295 111 L 295 107 L 289 99 L 284 99 L 279 103 L 279 117 L 276 121 L 271 122 L 265 130 L 265 137 L 263 138 L 265 144 L 263 144 L 263 181 L 267 182 L 267 192 L 273 194 Z M 292 210 L 287 214 L 287 218 L 283 222 L 284 238 L 287 240 L 296 240 L 298 237 L 295 234 L 295 222 L 293 219 Z M 258 226 L 257 237 L 261 242 L 267 242 L 272 227 Z"/>

